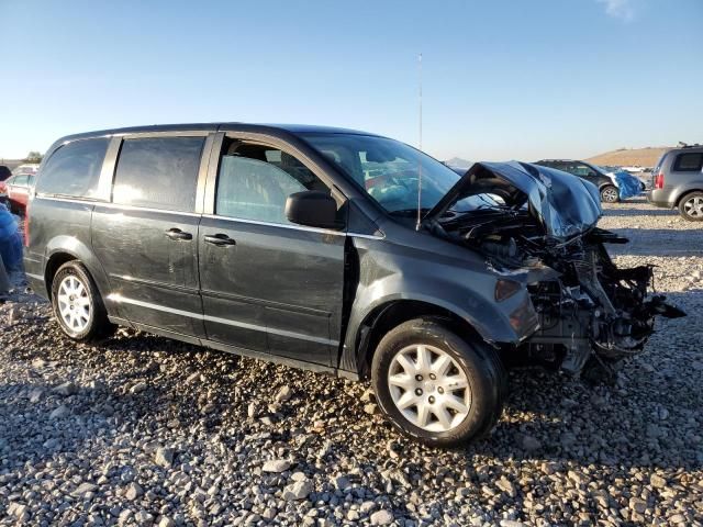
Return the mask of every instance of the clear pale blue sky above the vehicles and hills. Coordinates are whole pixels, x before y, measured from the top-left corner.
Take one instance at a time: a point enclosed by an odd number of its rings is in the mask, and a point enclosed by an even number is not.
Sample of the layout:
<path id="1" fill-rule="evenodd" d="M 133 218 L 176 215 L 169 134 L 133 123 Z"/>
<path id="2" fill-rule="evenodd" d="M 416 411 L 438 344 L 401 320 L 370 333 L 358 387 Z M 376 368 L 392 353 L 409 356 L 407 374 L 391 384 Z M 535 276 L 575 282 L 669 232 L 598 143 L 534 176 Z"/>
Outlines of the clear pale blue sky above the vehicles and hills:
<path id="1" fill-rule="evenodd" d="M 703 142 L 703 0 L 0 0 L 0 158 L 164 123 L 373 132 L 439 158 Z"/>

